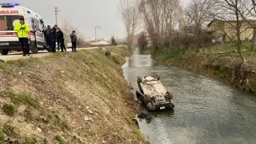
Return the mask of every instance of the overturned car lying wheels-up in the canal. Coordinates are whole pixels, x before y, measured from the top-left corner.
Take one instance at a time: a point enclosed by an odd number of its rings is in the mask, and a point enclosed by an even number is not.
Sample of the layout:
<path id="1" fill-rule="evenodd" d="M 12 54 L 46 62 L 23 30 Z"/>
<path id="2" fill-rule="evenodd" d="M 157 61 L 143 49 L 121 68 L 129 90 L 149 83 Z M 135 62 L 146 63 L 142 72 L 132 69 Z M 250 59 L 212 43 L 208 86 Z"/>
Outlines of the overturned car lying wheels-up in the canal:
<path id="1" fill-rule="evenodd" d="M 166 91 L 159 75 L 145 76 L 137 78 L 139 91 L 136 97 L 146 105 L 148 110 L 173 109 L 174 103 L 171 101 L 173 96 Z"/>

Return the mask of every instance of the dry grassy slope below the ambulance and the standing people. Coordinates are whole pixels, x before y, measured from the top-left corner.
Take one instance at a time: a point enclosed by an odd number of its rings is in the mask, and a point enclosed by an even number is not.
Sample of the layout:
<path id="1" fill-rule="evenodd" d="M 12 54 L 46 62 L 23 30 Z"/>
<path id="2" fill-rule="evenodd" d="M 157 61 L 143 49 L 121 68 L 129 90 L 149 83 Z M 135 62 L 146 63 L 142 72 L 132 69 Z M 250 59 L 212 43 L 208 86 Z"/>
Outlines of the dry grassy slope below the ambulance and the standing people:
<path id="1" fill-rule="evenodd" d="M 0 62 L 0 144 L 146 143 L 118 54 L 100 50 Z"/>

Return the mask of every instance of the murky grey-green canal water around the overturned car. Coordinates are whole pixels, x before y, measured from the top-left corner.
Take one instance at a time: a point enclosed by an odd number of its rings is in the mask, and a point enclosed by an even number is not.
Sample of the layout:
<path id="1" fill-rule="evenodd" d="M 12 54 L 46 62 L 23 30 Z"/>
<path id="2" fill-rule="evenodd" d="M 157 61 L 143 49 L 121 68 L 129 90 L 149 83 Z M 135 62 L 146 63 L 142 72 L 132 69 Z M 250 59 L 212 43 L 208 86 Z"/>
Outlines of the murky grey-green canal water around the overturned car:
<path id="1" fill-rule="evenodd" d="M 157 72 L 174 94 L 174 111 L 161 111 L 150 122 L 139 120 L 152 144 L 255 144 L 256 97 L 229 85 L 172 66 L 154 65 L 149 55 L 133 55 L 123 65 L 137 88 L 137 75 Z"/>

